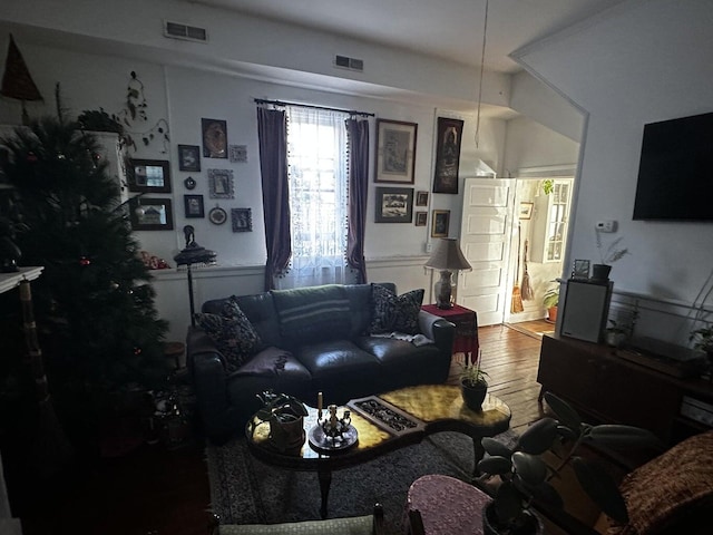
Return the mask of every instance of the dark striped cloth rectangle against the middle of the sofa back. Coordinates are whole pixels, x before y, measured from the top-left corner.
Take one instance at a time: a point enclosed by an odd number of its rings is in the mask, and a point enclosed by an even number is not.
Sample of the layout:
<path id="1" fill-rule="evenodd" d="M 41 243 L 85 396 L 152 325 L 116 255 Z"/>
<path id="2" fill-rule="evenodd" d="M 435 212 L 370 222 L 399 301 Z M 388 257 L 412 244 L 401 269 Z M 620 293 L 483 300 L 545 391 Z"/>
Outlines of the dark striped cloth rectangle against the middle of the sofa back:
<path id="1" fill-rule="evenodd" d="M 349 338 L 351 315 L 344 286 L 323 286 L 273 290 L 280 318 L 280 332 L 289 348 L 315 340 Z"/>

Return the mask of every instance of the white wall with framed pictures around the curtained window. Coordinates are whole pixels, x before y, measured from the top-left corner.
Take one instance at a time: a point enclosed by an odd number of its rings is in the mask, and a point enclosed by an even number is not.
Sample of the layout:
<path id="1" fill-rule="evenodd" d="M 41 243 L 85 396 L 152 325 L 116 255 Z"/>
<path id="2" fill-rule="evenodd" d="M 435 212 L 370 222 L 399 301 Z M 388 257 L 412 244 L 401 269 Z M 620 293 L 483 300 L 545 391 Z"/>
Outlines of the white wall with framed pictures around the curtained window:
<path id="1" fill-rule="evenodd" d="M 140 3 L 139 9 L 137 0 L 127 0 L 120 7 L 113 4 L 99 12 L 99 7 L 94 3 L 68 1 L 55 16 L 48 14 L 49 3 L 48 0 L 30 0 L 29 3 L 10 0 L 0 6 L 0 29 L 13 31 L 30 72 L 45 96 L 45 103 L 28 105 L 29 113 L 31 116 L 55 114 L 56 82 L 60 84 L 62 104 L 69 117 L 100 107 L 110 114 L 118 113 L 124 106 L 130 72 L 137 74 L 145 88 L 148 120 L 146 126 L 136 124 L 130 129 L 137 133 L 135 137 L 140 137 L 141 130 L 165 118 L 170 125 L 170 146 L 164 154 L 160 143 L 154 142 L 148 147 L 139 143 L 139 149 L 130 155 L 170 162 L 172 193 L 153 196 L 173 201 L 175 226 L 173 231 L 138 232 L 137 237 L 143 249 L 174 265 L 174 255 L 185 246 L 183 226 L 195 226 L 196 241 L 216 251 L 219 264 L 214 273 L 208 270 L 196 272 L 198 305 L 209 298 L 262 290 L 260 266 L 264 263 L 265 252 L 256 97 L 360 109 L 381 118 L 417 123 L 414 192 L 431 191 L 436 152 L 433 132 L 438 116 L 465 120 L 461 189 L 462 181 L 475 176 L 479 159 L 499 174 L 505 171 L 508 125 L 505 119 L 492 117 L 492 105 L 508 104 L 510 77 L 487 75 L 484 81 L 487 106 L 484 107 L 480 142 L 476 147 L 477 84 L 473 69 L 336 39 L 331 35 L 237 18 L 195 3 L 185 4 L 185 10 L 176 11 L 180 3 L 158 0 L 149 6 Z M 136 16 L 138 12 L 141 17 Z M 163 17 L 209 26 L 209 43 L 163 38 Z M 11 23 L 8 26 L 7 22 Z M 7 48 L 7 35 L 0 36 L 0 49 Z M 362 57 L 369 69 L 361 80 L 352 82 L 346 78 L 354 77 L 353 74 L 333 69 L 331 59 L 328 61 L 324 54 L 314 51 L 320 47 L 329 58 L 333 52 Z M 218 50 L 221 57 L 215 56 Z M 305 54 L 305 50 L 313 50 L 313 54 Z M 303 70 L 286 70 L 284 67 L 291 61 L 296 69 Z M 282 82 L 274 81 L 277 75 L 284 75 Z M 322 85 L 321 89 L 315 89 L 316 81 Z M 526 98 L 520 100 L 527 103 Z M 547 99 L 538 97 L 538 100 L 544 103 Z M 19 117 L 18 103 L 0 100 L 0 124 L 17 124 Z M 203 158 L 199 173 L 179 172 L 176 145 L 201 145 L 202 117 L 225 119 L 228 144 L 246 145 L 247 163 Z M 566 121 L 569 120 L 572 118 L 567 117 Z M 375 143 L 373 123 L 372 119 L 372 146 Z M 568 128 L 570 125 L 560 129 Z M 545 132 L 539 130 L 540 134 Z M 544 157 L 549 158 L 551 154 L 548 150 Z M 533 165 L 551 164 L 530 156 L 527 159 L 533 160 Z M 234 172 L 234 200 L 208 198 L 208 168 Z M 198 183 L 193 191 L 183 185 L 187 176 L 193 176 Z M 370 280 L 394 281 L 401 291 L 426 286 L 429 301 L 432 284 L 430 273 L 423 270 L 422 264 L 428 256 L 426 244 L 431 240 L 430 218 L 426 227 L 417 227 L 413 223 L 373 223 L 377 184 L 371 183 L 369 187 L 365 255 Z M 206 213 L 215 204 L 228 213 L 231 207 L 251 207 L 254 231 L 233 233 L 229 223 L 216 226 L 207 218 L 186 220 L 184 194 L 204 195 Z M 434 208 L 451 211 L 450 235 L 457 236 L 461 197 L 430 193 L 426 210 L 430 213 Z M 155 286 L 159 313 L 172 324 L 169 338 L 183 339 L 189 318 L 185 272 L 156 272 Z"/>

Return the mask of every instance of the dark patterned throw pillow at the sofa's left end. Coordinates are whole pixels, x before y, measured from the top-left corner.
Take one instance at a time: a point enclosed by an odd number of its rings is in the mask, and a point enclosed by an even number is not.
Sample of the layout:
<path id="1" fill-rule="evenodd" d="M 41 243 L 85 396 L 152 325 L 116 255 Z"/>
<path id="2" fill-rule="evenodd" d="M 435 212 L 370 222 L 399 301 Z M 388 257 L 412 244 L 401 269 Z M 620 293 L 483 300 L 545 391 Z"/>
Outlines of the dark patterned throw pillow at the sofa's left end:
<path id="1" fill-rule="evenodd" d="M 260 334 L 236 303 L 232 312 L 233 317 L 204 313 L 195 315 L 198 325 L 225 357 L 225 366 L 231 373 L 247 362 L 263 346 Z"/>

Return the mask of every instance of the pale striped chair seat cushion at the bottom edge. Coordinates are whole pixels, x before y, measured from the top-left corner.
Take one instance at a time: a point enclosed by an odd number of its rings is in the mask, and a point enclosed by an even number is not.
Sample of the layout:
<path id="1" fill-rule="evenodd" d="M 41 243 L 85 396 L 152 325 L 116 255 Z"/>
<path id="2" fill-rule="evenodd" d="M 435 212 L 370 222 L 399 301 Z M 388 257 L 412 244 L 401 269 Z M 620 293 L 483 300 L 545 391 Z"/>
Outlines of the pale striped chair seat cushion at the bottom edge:
<path id="1" fill-rule="evenodd" d="M 219 535 L 371 535 L 373 516 L 329 518 L 325 521 L 290 522 L 285 524 L 226 524 Z"/>

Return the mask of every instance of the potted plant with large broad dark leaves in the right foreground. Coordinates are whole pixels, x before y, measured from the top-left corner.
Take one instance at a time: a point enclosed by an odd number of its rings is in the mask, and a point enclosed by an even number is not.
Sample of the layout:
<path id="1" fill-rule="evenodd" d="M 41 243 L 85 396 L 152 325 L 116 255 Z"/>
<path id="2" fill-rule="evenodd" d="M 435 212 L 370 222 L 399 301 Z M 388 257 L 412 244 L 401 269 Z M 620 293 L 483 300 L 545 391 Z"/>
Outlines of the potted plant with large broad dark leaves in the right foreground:
<path id="1" fill-rule="evenodd" d="M 556 418 L 546 417 L 533 424 L 517 440 L 512 449 L 492 439 L 484 438 L 488 454 L 478 463 L 487 478 L 499 476 L 500 485 L 495 499 L 482 515 L 484 533 L 531 534 L 541 532 L 541 525 L 530 510 L 533 502 L 561 507 L 563 499 L 551 485 L 565 466 L 572 464 L 583 490 L 618 522 L 626 523 L 626 504 L 617 485 L 604 470 L 575 456 L 582 444 L 605 446 L 655 447 L 661 441 L 649 431 L 631 426 L 592 426 L 564 400 L 547 392 L 545 399 Z M 556 466 L 548 466 L 543 454 L 558 450 Z M 538 532 L 539 529 L 539 532 Z"/>

